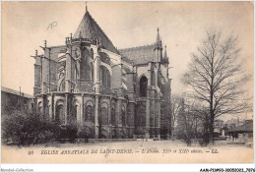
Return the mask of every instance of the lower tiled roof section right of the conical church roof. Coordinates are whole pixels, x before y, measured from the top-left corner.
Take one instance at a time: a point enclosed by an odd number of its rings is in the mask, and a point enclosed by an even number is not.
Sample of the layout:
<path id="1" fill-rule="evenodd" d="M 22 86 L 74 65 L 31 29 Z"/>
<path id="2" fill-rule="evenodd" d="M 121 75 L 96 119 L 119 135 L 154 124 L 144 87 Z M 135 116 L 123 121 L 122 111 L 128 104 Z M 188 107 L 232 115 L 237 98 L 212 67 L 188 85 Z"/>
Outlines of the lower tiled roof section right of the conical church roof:
<path id="1" fill-rule="evenodd" d="M 134 62 L 135 64 L 143 64 L 154 60 L 155 46 L 155 44 L 152 44 L 140 47 L 119 49 L 119 52 L 123 56 L 124 61 L 129 63 Z"/>

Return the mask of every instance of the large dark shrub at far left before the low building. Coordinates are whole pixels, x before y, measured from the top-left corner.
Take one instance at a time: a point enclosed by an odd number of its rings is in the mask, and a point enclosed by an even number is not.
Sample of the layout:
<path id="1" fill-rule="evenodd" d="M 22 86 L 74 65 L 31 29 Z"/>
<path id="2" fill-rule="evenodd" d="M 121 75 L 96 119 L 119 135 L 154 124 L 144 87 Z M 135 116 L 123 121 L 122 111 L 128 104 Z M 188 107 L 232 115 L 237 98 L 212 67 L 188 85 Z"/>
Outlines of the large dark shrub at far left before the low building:
<path id="1" fill-rule="evenodd" d="M 2 115 L 2 138 L 18 145 L 47 143 L 54 138 L 54 134 L 46 125 L 35 112 L 13 110 Z"/>

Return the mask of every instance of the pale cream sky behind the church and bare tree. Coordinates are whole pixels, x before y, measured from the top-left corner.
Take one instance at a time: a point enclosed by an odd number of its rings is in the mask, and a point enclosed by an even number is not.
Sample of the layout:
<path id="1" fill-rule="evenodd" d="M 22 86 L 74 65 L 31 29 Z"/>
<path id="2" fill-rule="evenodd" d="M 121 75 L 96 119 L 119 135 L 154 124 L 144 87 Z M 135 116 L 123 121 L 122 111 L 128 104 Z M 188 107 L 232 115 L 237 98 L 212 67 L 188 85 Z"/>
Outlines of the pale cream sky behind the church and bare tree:
<path id="1" fill-rule="evenodd" d="M 252 2 L 88 2 L 88 10 L 118 49 L 152 44 L 160 28 L 172 93 L 183 91 L 180 79 L 207 29 L 237 35 L 253 74 Z M 65 44 L 85 12 L 85 2 L 2 2 L 2 86 L 32 94 L 34 50 L 42 53 L 45 39 L 48 46 Z"/>

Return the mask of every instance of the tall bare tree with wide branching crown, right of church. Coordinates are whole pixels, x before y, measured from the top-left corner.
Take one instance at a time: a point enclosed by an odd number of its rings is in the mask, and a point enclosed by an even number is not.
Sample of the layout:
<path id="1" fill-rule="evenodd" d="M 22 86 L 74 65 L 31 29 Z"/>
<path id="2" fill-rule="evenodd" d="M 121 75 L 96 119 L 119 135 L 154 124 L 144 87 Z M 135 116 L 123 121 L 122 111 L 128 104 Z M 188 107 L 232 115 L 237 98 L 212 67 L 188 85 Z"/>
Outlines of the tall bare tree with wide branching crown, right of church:
<path id="1" fill-rule="evenodd" d="M 248 80 L 239 56 L 237 39 L 223 38 L 220 32 L 208 31 L 202 46 L 192 54 L 189 71 L 183 82 L 192 89 L 194 98 L 208 107 L 209 140 L 213 144 L 215 119 L 224 114 L 238 114 L 248 108 L 242 85 Z"/>

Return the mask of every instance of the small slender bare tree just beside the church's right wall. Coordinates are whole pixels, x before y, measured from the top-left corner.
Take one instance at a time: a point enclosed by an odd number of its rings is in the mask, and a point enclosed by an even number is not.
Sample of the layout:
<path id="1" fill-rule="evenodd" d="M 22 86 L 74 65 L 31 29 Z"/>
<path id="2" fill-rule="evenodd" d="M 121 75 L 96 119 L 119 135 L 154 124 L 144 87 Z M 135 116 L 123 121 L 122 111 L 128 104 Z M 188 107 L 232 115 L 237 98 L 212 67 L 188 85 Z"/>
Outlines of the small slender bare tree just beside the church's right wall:
<path id="1" fill-rule="evenodd" d="M 182 97 L 178 94 L 172 94 L 171 95 L 171 103 L 170 103 L 170 109 L 171 109 L 171 139 L 174 141 L 174 132 L 175 127 L 177 124 L 177 116 L 180 112 L 181 104 L 182 103 Z"/>

